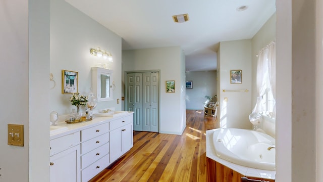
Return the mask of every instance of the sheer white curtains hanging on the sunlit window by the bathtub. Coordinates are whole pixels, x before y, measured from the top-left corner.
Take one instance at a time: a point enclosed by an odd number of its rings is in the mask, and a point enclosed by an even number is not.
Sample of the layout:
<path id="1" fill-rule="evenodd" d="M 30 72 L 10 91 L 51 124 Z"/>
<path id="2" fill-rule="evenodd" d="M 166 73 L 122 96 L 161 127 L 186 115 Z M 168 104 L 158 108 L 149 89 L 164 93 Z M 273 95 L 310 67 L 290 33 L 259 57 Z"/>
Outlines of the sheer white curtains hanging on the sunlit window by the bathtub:
<path id="1" fill-rule="evenodd" d="M 263 96 L 271 92 L 276 98 L 276 44 L 271 42 L 265 48 L 259 51 L 257 60 L 256 87 L 257 87 L 257 102 L 252 110 L 253 113 L 261 113 L 269 108 L 264 108 Z M 269 78 L 269 79 L 268 79 Z M 269 83 L 268 83 L 269 80 Z M 268 105 L 268 104 L 267 104 Z M 275 104 L 270 108 L 269 112 L 272 117 L 276 116 Z"/>

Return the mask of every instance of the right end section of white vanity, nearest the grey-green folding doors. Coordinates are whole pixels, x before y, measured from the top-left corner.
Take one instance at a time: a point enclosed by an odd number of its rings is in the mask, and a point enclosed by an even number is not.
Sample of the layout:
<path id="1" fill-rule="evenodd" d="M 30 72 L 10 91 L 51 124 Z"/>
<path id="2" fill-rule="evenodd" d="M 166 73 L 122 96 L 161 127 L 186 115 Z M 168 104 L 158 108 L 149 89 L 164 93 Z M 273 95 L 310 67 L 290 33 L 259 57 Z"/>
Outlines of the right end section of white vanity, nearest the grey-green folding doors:
<path id="1" fill-rule="evenodd" d="M 133 146 L 132 115 L 110 121 L 110 161 L 115 161 Z"/>

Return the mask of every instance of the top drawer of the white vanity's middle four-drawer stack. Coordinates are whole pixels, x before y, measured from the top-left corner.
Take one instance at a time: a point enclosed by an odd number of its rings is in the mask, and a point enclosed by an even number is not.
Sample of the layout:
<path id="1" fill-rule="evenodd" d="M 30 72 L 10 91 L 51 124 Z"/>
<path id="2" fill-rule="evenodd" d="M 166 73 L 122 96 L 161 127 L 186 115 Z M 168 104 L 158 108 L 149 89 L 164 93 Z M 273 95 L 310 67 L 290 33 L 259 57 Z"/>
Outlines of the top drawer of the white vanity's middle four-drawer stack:
<path id="1" fill-rule="evenodd" d="M 92 139 L 98 135 L 106 133 L 109 131 L 109 123 L 100 124 L 93 126 L 81 131 L 81 142 L 85 142 L 89 139 Z"/>

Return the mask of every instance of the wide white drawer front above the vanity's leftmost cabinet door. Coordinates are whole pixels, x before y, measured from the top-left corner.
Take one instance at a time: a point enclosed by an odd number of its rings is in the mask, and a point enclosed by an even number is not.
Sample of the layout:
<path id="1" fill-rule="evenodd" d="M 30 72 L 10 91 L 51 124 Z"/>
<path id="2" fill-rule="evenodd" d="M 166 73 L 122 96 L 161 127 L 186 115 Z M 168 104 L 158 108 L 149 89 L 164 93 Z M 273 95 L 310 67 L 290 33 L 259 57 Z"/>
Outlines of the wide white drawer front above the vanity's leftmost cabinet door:
<path id="1" fill-rule="evenodd" d="M 78 144 L 80 144 L 80 131 L 50 140 L 50 155 L 54 155 Z"/>

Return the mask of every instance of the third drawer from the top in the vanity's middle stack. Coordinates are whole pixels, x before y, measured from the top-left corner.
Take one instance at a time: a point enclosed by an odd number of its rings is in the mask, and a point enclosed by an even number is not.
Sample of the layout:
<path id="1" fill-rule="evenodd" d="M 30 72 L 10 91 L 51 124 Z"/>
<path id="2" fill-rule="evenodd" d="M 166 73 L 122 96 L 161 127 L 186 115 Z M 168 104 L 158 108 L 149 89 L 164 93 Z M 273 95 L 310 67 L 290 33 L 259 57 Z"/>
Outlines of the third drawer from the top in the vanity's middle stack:
<path id="1" fill-rule="evenodd" d="M 81 157 L 81 168 L 85 168 L 93 162 L 100 159 L 102 156 L 109 154 L 109 143 L 102 145 L 99 148 L 96 148 Z"/>

